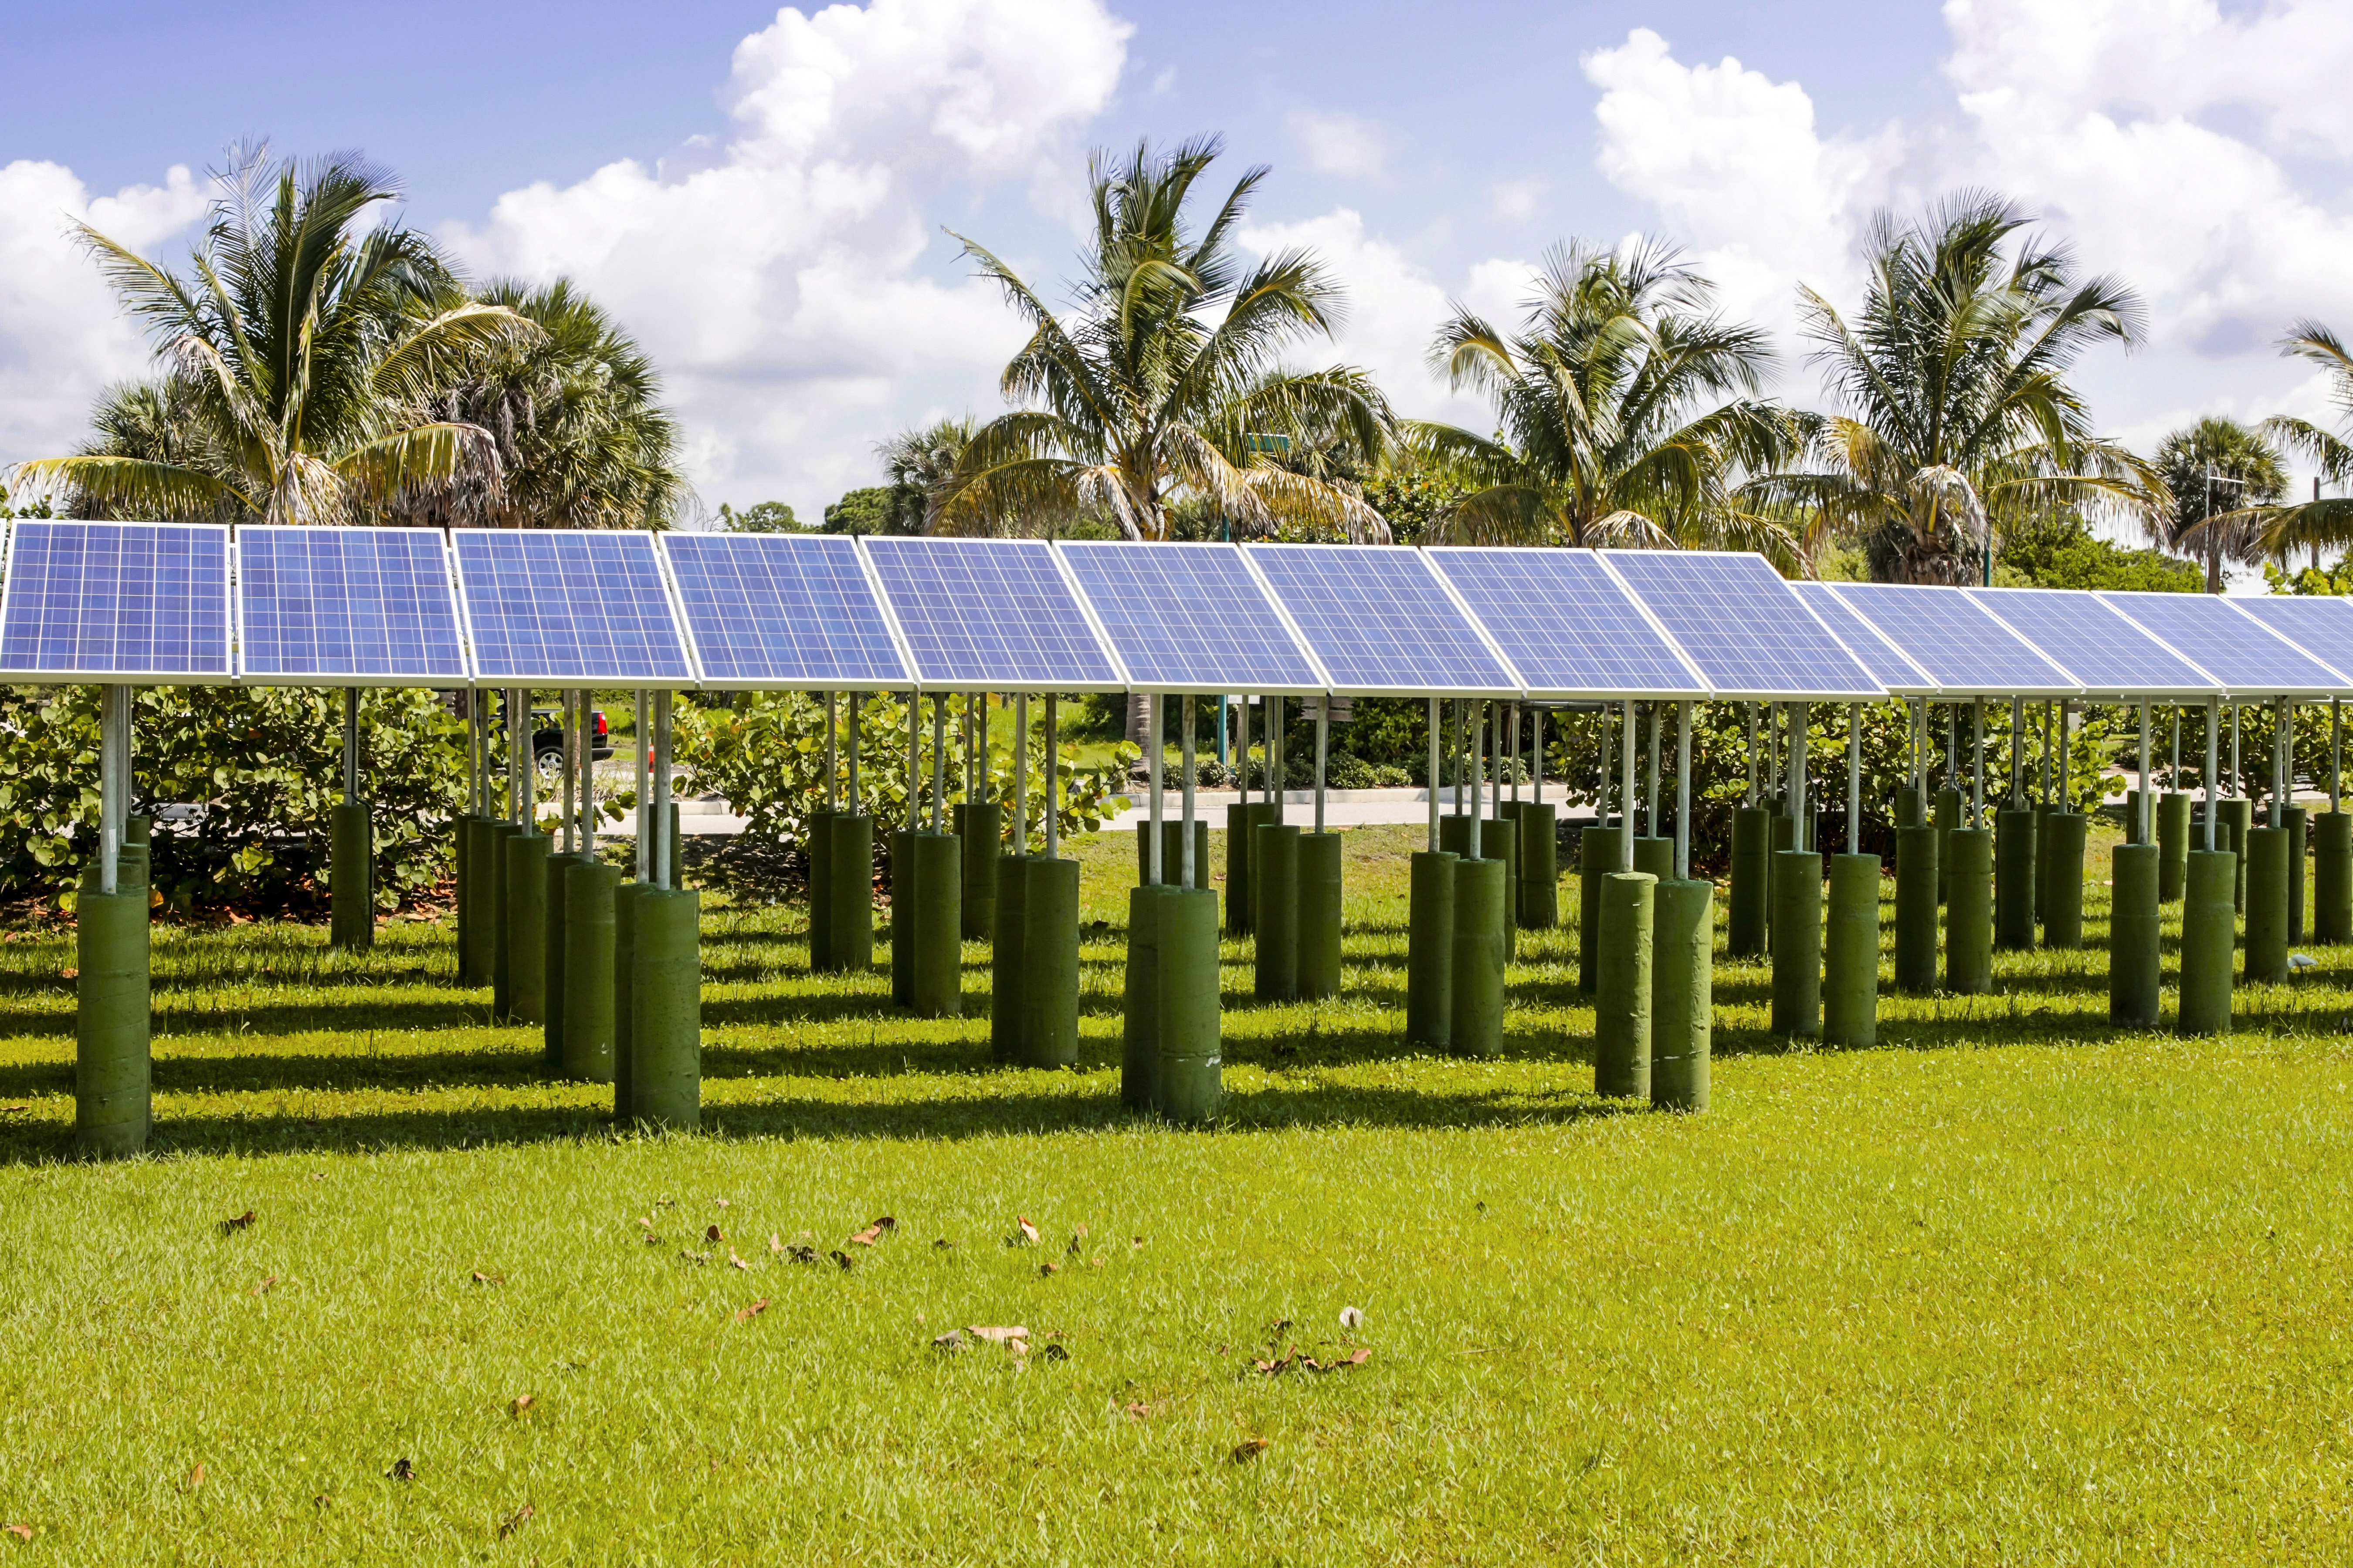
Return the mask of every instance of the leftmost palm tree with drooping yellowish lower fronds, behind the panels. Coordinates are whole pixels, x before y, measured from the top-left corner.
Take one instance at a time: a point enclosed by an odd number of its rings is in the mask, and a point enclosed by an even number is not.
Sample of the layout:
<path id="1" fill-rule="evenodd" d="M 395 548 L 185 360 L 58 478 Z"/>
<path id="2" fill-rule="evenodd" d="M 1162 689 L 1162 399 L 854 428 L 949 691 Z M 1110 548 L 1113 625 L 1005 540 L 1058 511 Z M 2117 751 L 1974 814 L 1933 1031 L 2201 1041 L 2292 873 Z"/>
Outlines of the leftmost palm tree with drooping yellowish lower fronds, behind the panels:
<path id="1" fill-rule="evenodd" d="M 501 473 L 489 433 L 421 404 L 454 364 L 539 329 L 456 296 L 424 235 L 367 228 L 393 197 L 358 158 L 271 162 L 249 146 L 219 176 L 186 277 L 85 223 L 106 280 L 153 331 L 165 383 L 111 395 L 94 451 L 19 463 L 12 480 L 141 517 L 351 522 L 485 503 Z"/>

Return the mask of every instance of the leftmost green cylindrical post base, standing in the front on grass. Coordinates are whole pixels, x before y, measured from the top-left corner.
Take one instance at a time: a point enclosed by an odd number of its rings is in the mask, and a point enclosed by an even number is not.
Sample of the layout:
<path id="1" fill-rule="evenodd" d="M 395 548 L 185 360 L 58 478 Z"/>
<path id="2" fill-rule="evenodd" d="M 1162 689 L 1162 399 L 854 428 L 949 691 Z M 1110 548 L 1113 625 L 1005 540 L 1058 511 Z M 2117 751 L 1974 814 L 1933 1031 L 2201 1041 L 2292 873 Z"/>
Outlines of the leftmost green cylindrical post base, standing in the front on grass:
<path id="1" fill-rule="evenodd" d="M 146 1147 L 155 1124 L 148 1056 L 148 889 L 115 863 L 113 893 L 96 875 L 75 898 L 73 1140 L 115 1159 Z"/>

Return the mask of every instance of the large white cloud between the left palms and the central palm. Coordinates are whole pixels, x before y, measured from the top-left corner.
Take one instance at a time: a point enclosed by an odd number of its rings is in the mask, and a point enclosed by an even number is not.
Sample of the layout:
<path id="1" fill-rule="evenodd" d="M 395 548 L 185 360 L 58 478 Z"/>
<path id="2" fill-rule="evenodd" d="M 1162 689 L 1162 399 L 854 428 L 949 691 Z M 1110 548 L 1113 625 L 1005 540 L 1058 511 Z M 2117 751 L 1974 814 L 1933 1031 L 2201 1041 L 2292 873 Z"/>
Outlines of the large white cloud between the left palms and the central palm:
<path id="1" fill-rule="evenodd" d="M 645 341 L 708 501 L 814 510 L 871 482 L 878 433 L 995 407 L 1021 324 L 920 273 L 929 214 L 1066 202 L 1129 33 L 1099 0 L 781 9 L 734 52 L 722 136 L 511 190 L 449 240 L 482 273 L 572 275 Z"/>

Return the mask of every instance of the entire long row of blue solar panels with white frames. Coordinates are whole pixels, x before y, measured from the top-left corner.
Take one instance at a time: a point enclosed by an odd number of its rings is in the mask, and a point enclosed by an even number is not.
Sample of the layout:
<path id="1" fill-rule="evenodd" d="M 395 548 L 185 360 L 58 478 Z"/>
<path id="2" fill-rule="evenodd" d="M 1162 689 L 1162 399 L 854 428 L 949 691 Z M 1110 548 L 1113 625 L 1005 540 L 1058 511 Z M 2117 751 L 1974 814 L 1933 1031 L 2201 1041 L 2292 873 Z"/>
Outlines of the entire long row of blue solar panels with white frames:
<path id="1" fill-rule="evenodd" d="M 1689 550 L 26 520 L 0 585 L 7 682 L 1847 701 L 2346 672 L 2337 599 L 1786 583 Z"/>

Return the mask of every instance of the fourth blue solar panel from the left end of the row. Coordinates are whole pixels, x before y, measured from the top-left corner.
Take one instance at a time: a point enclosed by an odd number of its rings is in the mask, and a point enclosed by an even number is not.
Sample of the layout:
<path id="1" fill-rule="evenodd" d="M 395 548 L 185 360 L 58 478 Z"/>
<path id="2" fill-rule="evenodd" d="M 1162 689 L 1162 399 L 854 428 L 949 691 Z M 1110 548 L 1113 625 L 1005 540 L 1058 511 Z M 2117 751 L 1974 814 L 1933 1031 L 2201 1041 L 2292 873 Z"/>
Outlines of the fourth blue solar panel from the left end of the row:
<path id="1" fill-rule="evenodd" d="M 666 534 L 704 679 L 904 686 L 906 661 L 856 541 L 842 534 Z"/>

